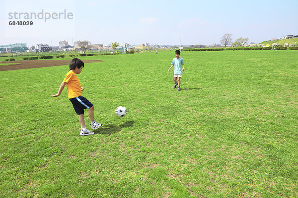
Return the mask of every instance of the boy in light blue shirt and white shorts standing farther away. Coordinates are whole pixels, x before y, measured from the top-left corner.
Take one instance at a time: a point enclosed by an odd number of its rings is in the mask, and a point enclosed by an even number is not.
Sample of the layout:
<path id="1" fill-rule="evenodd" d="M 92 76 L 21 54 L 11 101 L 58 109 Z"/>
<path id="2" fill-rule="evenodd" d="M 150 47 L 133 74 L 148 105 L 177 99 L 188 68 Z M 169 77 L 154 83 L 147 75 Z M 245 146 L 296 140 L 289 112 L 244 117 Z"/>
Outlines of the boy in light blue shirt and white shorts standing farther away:
<path id="1" fill-rule="evenodd" d="M 175 85 L 174 85 L 173 89 L 175 89 L 176 86 L 178 85 L 177 91 L 181 91 L 181 89 L 180 89 L 180 84 L 181 84 L 180 78 L 182 77 L 182 71 L 184 71 L 184 61 L 181 57 L 179 57 L 180 56 L 180 50 L 175 51 L 175 56 L 176 57 L 173 58 L 172 65 L 169 68 L 169 71 L 174 66 L 174 82 L 175 82 Z M 177 83 L 177 78 L 178 78 L 178 83 Z"/>

